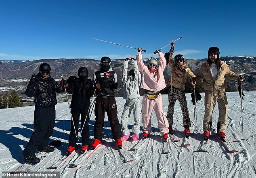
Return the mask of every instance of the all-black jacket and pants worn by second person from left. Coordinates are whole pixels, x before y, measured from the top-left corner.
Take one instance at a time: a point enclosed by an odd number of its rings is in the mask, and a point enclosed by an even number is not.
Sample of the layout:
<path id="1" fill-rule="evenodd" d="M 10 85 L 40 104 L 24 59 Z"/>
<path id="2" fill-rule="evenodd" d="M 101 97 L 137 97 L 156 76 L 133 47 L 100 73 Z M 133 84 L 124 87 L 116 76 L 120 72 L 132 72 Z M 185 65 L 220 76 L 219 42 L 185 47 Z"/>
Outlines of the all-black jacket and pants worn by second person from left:
<path id="1" fill-rule="evenodd" d="M 69 86 L 66 88 L 69 94 L 72 94 L 71 100 L 71 114 L 73 117 L 73 121 L 71 120 L 71 127 L 70 127 L 70 134 L 69 134 L 69 146 L 75 147 L 76 146 L 76 134 L 78 134 L 78 124 L 79 118 L 81 115 L 81 129 L 84 125 L 82 130 L 82 145 L 89 144 L 89 117 L 86 117 L 90 107 L 90 97 L 94 93 L 94 87 L 92 84 L 92 80 L 85 79 L 81 81 L 79 78 L 75 76 L 69 77 L 67 80 Z M 85 123 L 84 123 L 85 121 Z M 74 130 L 76 128 L 76 132 Z"/>

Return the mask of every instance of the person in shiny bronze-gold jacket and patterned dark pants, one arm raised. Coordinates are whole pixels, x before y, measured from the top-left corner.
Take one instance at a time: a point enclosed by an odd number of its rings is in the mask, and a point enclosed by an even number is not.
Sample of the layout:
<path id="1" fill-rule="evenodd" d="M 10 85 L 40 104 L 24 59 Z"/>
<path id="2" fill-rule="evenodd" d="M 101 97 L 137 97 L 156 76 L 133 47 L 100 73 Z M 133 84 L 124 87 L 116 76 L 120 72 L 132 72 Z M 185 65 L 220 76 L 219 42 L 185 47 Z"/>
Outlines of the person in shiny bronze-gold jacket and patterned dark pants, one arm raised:
<path id="1" fill-rule="evenodd" d="M 170 52 L 166 53 L 166 59 L 168 59 L 169 66 L 172 68 L 172 74 L 168 80 L 168 85 L 170 85 L 170 89 L 168 92 L 168 112 L 167 119 L 169 122 L 169 133 L 173 134 L 173 112 L 175 102 L 178 100 L 180 102 L 180 107 L 183 114 L 183 126 L 186 137 L 189 137 L 189 128 L 191 127 L 191 122 L 189 118 L 189 110 L 187 107 L 187 100 L 185 96 L 185 84 L 187 77 L 191 77 L 195 79 L 195 74 L 191 71 L 191 69 L 185 63 L 185 58 L 181 54 L 177 54 L 174 57 L 174 61 L 172 60 L 172 54 L 174 52 L 174 44 L 171 45 Z M 193 80 L 194 81 L 194 80 Z M 195 84 L 195 82 L 193 82 Z"/>

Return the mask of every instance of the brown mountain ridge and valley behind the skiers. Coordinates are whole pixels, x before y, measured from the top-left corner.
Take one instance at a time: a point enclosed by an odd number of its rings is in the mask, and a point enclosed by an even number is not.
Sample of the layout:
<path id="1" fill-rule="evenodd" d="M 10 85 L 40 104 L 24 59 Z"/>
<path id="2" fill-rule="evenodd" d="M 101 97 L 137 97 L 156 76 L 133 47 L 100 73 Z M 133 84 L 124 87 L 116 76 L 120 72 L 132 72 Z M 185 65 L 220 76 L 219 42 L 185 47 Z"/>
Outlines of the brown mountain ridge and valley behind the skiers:
<path id="1" fill-rule="evenodd" d="M 237 74 L 245 75 L 243 82 L 243 90 L 256 90 L 256 57 L 250 56 L 226 56 L 222 57 L 226 60 L 230 69 Z M 151 58 L 143 59 L 147 64 Z M 206 59 L 194 60 L 185 59 L 186 63 L 194 73 L 197 73 L 200 66 L 205 63 Z M 124 59 L 115 59 L 111 62 L 111 67 L 118 75 L 118 90 L 116 96 L 122 96 L 122 69 Z M 24 92 L 26 85 L 23 82 L 29 82 L 32 73 L 38 73 L 41 63 L 49 63 L 52 69 L 52 77 L 55 80 L 61 80 L 61 77 L 67 79 L 71 75 L 77 76 L 79 67 L 86 67 L 89 71 L 89 78 L 100 67 L 100 61 L 95 59 L 40 59 L 35 61 L 18 61 L 18 60 L 3 60 L 0 64 L 0 89 L 2 92 L 6 90 L 16 89 Z M 130 64 L 130 63 L 129 63 Z M 130 67 L 128 68 L 128 70 Z M 16 74 L 16 75 L 14 75 Z M 164 71 L 165 79 L 168 80 L 171 74 L 169 66 Z M 18 78 L 17 78 L 18 77 Z M 23 81 L 23 82 L 22 82 Z M 233 91 L 237 91 L 237 82 L 229 81 L 229 86 Z M 2 95 L 2 94 L 1 94 Z"/>

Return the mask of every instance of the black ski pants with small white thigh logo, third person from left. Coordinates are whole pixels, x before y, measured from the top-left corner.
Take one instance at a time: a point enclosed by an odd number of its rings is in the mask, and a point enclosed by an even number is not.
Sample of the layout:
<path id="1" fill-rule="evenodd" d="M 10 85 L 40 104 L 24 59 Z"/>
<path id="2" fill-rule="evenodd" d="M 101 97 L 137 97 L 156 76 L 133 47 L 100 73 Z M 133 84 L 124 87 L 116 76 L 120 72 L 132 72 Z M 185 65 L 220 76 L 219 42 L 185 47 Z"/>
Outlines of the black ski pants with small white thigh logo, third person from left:
<path id="1" fill-rule="evenodd" d="M 105 112 L 107 112 L 107 117 L 110 122 L 111 132 L 113 138 L 119 139 L 121 138 L 120 134 L 120 124 L 118 121 L 118 110 L 116 107 L 115 97 L 114 96 L 97 96 L 94 114 L 95 124 L 94 124 L 94 138 L 101 140 L 102 139 L 102 132 L 104 127 L 104 117 Z"/>

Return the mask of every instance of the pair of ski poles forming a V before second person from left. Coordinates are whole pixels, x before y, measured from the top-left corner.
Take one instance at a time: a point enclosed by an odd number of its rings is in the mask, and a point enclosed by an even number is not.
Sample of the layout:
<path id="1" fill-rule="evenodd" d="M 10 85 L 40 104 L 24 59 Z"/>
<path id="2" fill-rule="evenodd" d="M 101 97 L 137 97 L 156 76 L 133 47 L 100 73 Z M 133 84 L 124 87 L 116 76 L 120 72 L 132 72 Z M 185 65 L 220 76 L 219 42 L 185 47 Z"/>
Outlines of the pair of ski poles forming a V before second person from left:
<path id="1" fill-rule="evenodd" d="M 87 113 L 87 116 L 86 116 L 86 119 L 84 120 L 84 124 L 86 122 L 86 120 L 90 120 L 90 117 L 92 115 L 92 110 L 94 108 L 94 105 L 95 105 L 95 99 L 96 99 L 96 96 L 94 97 L 95 95 L 95 92 L 96 92 L 96 88 L 94 90 L 94 93 L 93 93 L 93 96 L 92 96 L 92 100 L 91 100 L 91 103 L 90 103 L 90 107 L 89 107 L 89 110 L 88 110 L 88 113 Z M 66 87 L 65 87 L 65 93 L 66 93 L 66 96 L 67 96 L 67 90 L 66 90 Z M 70 107 L 70 104 L 69 104 L 69 98 L 67 96 L 67 103 L 69 105 L 69 112 L 70 112 L 70 115 L 71 115 L 71 121 L 72 121 L 72 124 L 73 124 L 73 127 L 74 127 L 74 131 L 75 131 L 75 134 L 76 134 L 76 139 L 77 139 L 77 142 L 79 142 L 80 138 L 81 138 L 81 134 L 82 134 L 82 131 L 84 129 L 84 124 L 82 126 L 82 130 L 80 132 L 80 135 L 78 136 L 78 134 L 76 133 L 76 126 L 75 126 L 75 123 L 74 123 L 74 120 L 73 120 L 73 116 L 72 116 L 72 113 L 71 113 L 71 107 Z M 91 110 L 92 109 L 92 110 Z"/>

